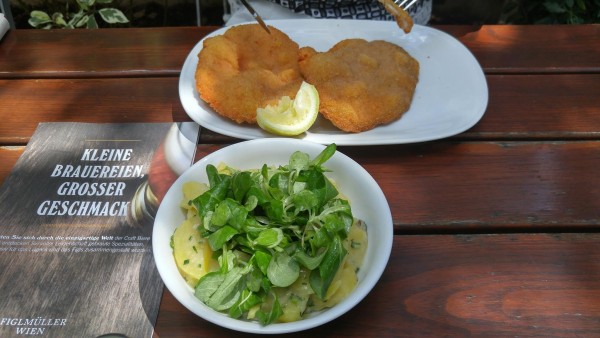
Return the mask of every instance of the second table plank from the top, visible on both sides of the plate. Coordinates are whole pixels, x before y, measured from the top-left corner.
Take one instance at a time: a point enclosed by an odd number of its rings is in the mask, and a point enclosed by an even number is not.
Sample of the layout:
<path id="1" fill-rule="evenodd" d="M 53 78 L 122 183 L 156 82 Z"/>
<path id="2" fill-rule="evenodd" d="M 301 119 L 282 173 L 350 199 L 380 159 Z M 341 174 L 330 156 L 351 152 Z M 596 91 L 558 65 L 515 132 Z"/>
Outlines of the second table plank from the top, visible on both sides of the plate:
<path id="1" fill-rule="evenodd" d="M 600 74 L 489 75 L 483 118 L 461 140 L 597 139 Z M 191 121 L 177 78 L 0 80 L 0 142 L 26 144 L 40 121 Z M 201 143 L 235 141 L 204 130 Z"/>

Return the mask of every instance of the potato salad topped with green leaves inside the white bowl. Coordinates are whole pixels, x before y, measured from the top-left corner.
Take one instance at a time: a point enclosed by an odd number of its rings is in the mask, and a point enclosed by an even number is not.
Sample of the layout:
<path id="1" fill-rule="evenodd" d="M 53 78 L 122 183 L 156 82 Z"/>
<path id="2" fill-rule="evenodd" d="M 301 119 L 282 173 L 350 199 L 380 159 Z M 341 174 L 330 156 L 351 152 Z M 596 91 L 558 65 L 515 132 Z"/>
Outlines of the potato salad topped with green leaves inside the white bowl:
<path id="1" fill-rule="evenodd" d="M 329 179 L 327 146 L 311 159 L 238 170 L 207 165 L 187 182 L 186 220 L 171 246 L 195 296 L 216 311 L 262 325 L 302 319 L 346 298 L 358 283 L 367 228 Z"/>

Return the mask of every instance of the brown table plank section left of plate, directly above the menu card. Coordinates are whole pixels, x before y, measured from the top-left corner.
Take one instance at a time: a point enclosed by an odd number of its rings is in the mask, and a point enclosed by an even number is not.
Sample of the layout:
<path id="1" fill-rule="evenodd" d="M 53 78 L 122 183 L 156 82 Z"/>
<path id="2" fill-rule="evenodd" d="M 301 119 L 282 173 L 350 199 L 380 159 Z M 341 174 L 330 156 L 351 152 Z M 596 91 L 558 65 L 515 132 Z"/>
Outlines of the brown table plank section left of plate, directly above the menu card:
<path id="1" fill-rule="evenodd" d="M 0 144 L 26 144 L 39 122 L 191 121 L 176 78 L 0 80 L 0 102 Z"/>

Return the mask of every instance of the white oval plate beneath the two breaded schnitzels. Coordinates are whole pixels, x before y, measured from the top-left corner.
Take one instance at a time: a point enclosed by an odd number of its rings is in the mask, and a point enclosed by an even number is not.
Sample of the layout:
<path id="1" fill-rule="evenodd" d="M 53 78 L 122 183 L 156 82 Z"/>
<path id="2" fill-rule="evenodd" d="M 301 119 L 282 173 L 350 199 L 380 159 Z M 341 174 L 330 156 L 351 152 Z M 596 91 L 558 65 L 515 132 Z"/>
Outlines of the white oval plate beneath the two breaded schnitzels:
<path id="1" fill-rule="evenodd" d="M 375 145 L 423 142 L 461 133 L 483 116 L 488 88 L 483 70 L 471 52 L 452 36 L 431 27 L 415 25 L 404 34 L 395 22 L 372 20 L 272 20 L 268 21 L 300 47 L 327 51 L 347 38 L 386 40 L 404 48 L 421 66 L 419 82 L 409 111 L 388 125 L 352 134 L 335 128 L 320 117 L 304 135 L 307 141 L 338 145 Z M 221 28 L 207 37 L 220 35 Z M 274 137 L 257 125 L 239 125 L 221 117 L 196 91 L 195 72 L 202 41 L 185 60 L 179 79 L 183 108 L 196 123 L 217 133 L 255 139 Z"/>

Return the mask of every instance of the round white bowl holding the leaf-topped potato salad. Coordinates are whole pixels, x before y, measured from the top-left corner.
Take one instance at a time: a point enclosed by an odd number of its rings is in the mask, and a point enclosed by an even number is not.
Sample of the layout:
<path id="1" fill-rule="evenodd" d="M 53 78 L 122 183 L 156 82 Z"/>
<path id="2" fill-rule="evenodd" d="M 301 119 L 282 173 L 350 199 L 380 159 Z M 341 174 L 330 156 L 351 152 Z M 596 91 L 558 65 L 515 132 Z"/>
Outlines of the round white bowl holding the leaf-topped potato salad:
<path id="1" fill-rule="evenodd" d="M 267 165 L 285 165 L 290 155 L 300 150 L 314 158 L 325 146 L 298 139 L 266 138 L 236 143 L 218 150 L 194 164 L 175 181 L 165 195 L 156 215 L 152 234 L 152 248 L 158 272 L 173 296 L 196 315 L 217 325 L 243 332 L 276 334 L 307 330 L 327 323 L 349 311 L 375 286 L 383 273 L 393 242 L 392 216 L 387 200 L 377 182 L 348 156 L 337 151 L 324 166 L 338 189 L 348 197 L 355 217 L 367 224 L 369 246 L 358 274 L 356 289 L 336 306 L 316 312 L 308 318 L 292 323 L 274 323 L 262 326 L 257 322 L 233 319 L 204 305 L 194 296 L 179 274 L 172 249 L 171 235 L 184 220 L 179 207 L 183 199 L 184 182 L 196 180 L 208 182 L 206 165 L 221 162 L 239 169 L 255 169 Z"/>

